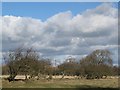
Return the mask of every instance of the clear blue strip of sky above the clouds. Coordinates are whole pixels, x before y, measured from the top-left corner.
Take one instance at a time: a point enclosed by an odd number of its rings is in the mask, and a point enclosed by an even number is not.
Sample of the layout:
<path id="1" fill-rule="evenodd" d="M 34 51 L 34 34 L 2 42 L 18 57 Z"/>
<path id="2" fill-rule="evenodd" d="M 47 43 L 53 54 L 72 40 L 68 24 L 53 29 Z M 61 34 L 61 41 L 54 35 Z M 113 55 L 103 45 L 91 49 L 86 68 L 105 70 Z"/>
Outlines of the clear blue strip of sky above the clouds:
<path id="1" fill-rule="evenodd" d="M 3 15 L 14 15 L 22 17 L 32 17 L 41 20 L 53 16 L 59 12 L 71 11 L 73 15 L 84 12 L 86 9 L 95 8 L 100 2 L 84 3 L 84 2 L 17 2 L 3 3 Z"/>

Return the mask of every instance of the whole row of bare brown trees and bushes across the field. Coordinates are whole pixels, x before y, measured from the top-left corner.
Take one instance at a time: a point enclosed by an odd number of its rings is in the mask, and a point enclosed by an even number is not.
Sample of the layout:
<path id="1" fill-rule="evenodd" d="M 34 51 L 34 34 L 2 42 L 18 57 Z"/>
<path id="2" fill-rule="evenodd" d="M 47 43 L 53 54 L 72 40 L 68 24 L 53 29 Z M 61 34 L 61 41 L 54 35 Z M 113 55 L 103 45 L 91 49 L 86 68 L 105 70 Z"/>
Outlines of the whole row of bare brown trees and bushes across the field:
<path id="1" fill-rule="evenodd" d="M 40 58 L 39 53 L 33 48 L 17 48 L 3 55 L 5 64 L 2 74 L 7 74 L 9 81 L 14 81 L 17 75 L 27 75 L 37 79 L 46 77 L 52 79 L 53 75 L 80 76 L 86 79 L 99 79 L 103 76 L 120 75 L 120 67 L 113 66 L 109 50 L 95 50 L 86 57 L 76 60 L 70 57 L 63 63 L 53 66 L 51 59 Z"/>

